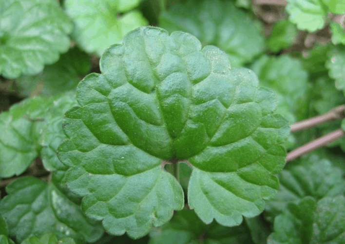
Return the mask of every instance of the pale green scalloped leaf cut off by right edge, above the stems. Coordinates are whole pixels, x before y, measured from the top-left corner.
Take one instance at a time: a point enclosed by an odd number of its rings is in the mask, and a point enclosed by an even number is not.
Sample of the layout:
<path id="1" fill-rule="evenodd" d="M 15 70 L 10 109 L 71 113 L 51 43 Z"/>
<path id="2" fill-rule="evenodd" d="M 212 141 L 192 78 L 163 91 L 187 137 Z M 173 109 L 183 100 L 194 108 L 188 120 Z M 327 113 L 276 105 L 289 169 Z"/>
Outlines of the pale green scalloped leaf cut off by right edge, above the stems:
<path id="1" fill-rule="evenodd" d="M 345 46 L 334 47 L 327 56 L 326 68 L 329 77 L 335 80 L 335 87 L 345 94 Z"/>

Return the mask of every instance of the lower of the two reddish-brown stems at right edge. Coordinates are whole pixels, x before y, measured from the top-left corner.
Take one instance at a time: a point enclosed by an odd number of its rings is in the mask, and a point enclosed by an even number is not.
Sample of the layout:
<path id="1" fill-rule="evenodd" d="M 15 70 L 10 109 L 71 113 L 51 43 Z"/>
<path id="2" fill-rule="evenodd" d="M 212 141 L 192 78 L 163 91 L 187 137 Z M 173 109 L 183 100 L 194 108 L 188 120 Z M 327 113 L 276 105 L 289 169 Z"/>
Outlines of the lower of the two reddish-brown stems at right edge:
<path id="1" fill-rule="evenodd" d="M 345 131 L 342 129 L 335 130 L 326 136 L 320 137 L 312 142 L 307 143 L 291 152 L 286 157 L 287 163 L 293 161 L 309 152 L 312 152 L 320 147 L 325 146 L 330 142 L 335 142 L 345 136 Z"/>

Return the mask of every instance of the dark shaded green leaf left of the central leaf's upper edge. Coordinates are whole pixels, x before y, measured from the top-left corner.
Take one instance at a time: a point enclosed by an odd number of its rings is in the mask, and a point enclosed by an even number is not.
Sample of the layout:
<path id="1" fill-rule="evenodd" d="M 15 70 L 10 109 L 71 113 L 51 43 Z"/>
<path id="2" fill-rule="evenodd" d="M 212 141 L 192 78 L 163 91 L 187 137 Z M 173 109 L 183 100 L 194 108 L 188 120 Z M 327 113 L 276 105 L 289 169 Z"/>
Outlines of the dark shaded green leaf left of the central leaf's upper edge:
<path id="1" fill-rule="evenodd" d="M 48 96 L 72 90 L 91 69 L 88 55 L 78 48 L 61 55 L 58 62 L 46 66 L 36 76 L 22 76 L 16 80 L 19 94 L 32 96 L 44 94 Z"/>

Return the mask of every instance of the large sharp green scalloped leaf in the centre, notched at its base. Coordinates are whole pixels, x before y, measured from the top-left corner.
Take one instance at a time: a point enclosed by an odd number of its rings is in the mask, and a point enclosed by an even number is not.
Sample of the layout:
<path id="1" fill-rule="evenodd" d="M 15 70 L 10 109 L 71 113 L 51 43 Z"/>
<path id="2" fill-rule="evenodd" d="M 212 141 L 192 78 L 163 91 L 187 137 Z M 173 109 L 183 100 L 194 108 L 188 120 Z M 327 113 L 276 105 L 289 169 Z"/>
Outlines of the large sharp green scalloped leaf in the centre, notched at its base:
<path id="1" fill-rule="evenodd" d="M 67 185 L 108 233 L 138 238 L 184 205 L 163 161 L 188 160 L 188 201 L 205 222 L 241 224 L 279 188 L 289 127 L 254 72 L 184 32 L 143 27 L 78 84 L 58 155 Z"/>

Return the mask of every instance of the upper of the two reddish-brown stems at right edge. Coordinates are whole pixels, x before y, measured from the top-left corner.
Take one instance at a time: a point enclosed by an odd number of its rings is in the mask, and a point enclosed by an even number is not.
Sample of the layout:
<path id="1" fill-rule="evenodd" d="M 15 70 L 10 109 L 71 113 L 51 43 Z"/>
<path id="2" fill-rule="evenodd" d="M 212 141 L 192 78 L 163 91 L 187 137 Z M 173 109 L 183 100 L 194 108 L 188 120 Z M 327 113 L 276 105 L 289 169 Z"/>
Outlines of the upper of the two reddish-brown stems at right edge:
<path id="1" fill-rule="evenodd" d="M 318 126 L 323 123 L 327 123 L 334 120 L 339 120 L 345 118 L 345 105 L 341 105 L 329 111 L 326 114 L 319 115 L 304 121 L 300 121 L 291 125 L 291 132 L 298 132 L 302 130 L 307 130 Z"/>

